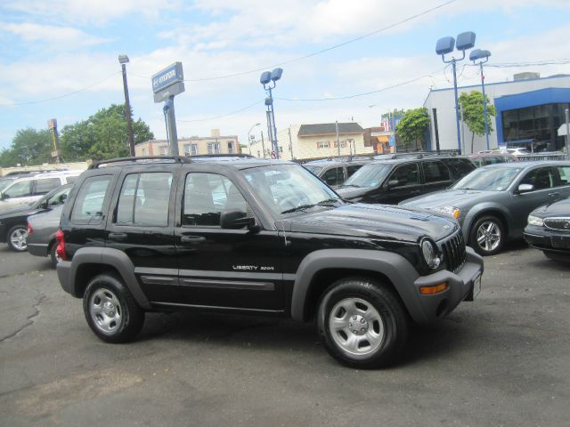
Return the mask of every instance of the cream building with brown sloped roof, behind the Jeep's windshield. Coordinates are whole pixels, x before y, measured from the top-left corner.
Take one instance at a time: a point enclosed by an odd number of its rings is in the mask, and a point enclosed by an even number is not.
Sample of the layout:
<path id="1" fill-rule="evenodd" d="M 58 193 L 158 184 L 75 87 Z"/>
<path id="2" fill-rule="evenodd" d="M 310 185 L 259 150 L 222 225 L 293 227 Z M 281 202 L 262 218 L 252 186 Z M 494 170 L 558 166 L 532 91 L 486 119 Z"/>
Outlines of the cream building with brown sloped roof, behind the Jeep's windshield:
<path id="1" fill-rule="evenodd" d="M 324 123 L 315 125 L 290 125 L 277 133 L 279 158 L 302 160 L 335 156 L 371 154 L 373 147 L 364 145 L 364 129 L 357 123 Z M 256 157 L 271 157 L 271 141 L 251 143 L 247 152 Z"/>

